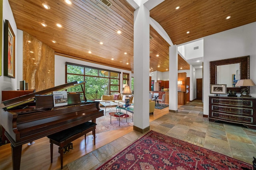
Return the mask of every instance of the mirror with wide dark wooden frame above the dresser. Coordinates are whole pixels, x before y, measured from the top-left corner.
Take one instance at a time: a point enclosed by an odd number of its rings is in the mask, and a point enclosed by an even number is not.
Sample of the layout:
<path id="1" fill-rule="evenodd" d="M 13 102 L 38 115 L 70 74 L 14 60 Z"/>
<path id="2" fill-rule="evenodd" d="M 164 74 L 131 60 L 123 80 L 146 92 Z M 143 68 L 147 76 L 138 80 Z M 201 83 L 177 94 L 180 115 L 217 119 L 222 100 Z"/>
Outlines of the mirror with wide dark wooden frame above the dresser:
<path id="1" fill-rule="evenodd" d="M 229 66 L 229 65 L 232 68 L 236 68 L 235 69 L 236 71 L 233 71 L 233 72 L 227 71 L 228 68 L 226 68 L 226 66 Z M 225 68 L 224 67 L 220 68 L 219 66 L 225 66 Z M 223 70 L 220 71 L 218 74 L 218 69 L 219 70 L 223 69 Z M 230 84 L 231 82 L 233 82 L 232 86 L 229 87 L 227 85 L 227 92 L 229 90 L 240 92 L 242 89 L 241 87 L 234 87 L 234 84 L 235 84 L 235 81 L 233 81 L 234 74 L 236 75 L 236 79 L 235 79 L 236 81 L 250 78 L 250 56 L 210 61 L 210 84 L 223 84 L 223 82 L 218 81 L 218 79 L 221 79 L 221 76 L 222 76 L 223 79 L 230 81 Z M 228 84 L 228 83 L 225 83 L 225 84 Z"/>

